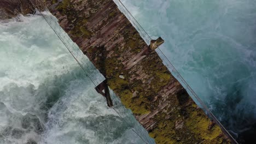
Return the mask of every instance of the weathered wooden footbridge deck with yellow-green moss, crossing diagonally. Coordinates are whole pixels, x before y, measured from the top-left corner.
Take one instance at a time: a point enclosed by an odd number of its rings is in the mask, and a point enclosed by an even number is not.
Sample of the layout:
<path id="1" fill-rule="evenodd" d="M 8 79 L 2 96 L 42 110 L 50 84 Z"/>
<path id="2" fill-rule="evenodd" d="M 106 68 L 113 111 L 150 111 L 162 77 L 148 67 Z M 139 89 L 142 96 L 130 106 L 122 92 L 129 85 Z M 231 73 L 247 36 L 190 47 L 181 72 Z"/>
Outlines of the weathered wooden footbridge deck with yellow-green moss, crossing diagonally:
<path id="1" fill-rule="evenodd" d="M 151 52 L 125 64 L 147 44 L 112 0 L 33 0 L 47 5 L 72 40 L 106 76 L 108 85 L 156 143 L 230 143 Z M 33 13 L 28 0 L 1 0 L 1 19 Z"/>

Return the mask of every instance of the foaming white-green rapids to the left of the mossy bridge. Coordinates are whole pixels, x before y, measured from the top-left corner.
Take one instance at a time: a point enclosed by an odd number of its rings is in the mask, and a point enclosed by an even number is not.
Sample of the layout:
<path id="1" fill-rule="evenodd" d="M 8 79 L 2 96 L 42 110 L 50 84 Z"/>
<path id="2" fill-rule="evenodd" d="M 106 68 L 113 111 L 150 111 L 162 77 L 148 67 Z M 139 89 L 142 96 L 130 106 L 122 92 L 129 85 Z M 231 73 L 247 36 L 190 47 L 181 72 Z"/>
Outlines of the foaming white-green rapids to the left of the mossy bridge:
<path id="1" fill-rule="evenodd" d="M 0 143 L 144 143 L 42 16 L 0 23 L 0 83 Z"/>

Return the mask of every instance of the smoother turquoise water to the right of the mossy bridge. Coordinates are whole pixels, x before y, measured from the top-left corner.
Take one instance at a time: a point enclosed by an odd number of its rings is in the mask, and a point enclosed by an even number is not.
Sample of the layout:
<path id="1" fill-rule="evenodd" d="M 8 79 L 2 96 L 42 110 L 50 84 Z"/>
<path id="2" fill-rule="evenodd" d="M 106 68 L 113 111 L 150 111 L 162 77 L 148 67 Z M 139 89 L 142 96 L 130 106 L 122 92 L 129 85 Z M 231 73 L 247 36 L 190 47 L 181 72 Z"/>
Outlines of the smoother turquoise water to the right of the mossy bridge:
<path id="1" fill-rule="evenodd" d="M 256 1 L 121 0 L 238 141 L 256 139 Z"/>

